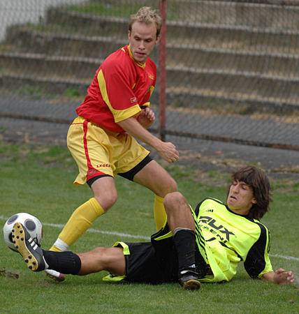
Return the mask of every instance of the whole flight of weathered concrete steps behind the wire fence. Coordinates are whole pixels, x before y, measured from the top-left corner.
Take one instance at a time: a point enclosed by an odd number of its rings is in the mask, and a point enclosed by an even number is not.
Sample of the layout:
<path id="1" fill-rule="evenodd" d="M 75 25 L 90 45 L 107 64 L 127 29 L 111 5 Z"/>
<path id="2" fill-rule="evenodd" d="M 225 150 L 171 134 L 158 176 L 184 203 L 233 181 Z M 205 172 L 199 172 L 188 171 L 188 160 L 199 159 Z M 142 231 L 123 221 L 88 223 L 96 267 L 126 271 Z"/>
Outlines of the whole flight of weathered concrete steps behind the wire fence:
<path id="1" fill-rule="evenodd" d="M 215 1 L 198 3 L 217 5 L 217 17 L 211 18 L 212 23 L 207 23 L 205 14 L 198 18 L 196 10 L 192 14 L 200 22 L 168 22 L 168 100 L 186 106 L 203 99 L 213 99 L 215 103 L 244 100 L 260 105 L 296 106 L 297 22 L 287 18 L 279 22 L 271 17 L 270 26 L 265 27 L 265 21 L 258 21 L 253 14 L 258 6 L 238 6 L 244 12 L 237 15 L 231 3 L 229 8 L 227 3 L 220 6 Z M 235 15 L 231 13 L 228 20 L 221 20 L 224 8 L 233 10 Z M 270 8 L 273 12 L 278 8 L 289 10 L 281 6 Z M 254 11 L 249 14 L 250 9 Z M 48 10 L 45 21 L 41 28 L 48 29 L 48 33 L 28 27 L 12 27 L 8 31 L 6 49 L 0 53 L 2 87 L 15 81 L 20 85 L 39 84 L 56 93 L 64 87 L 85 90 L 105 55 L 126 43 L 126 39 L 119 39 L 119 34 L 126 33 L 127 19 L 54 8 Z M 57 34 L 52 33 L 55 29 Z M 67 34 L 59 32 L 61 29 Z M 99 33 L 105 36 L 99 37 Z"/>

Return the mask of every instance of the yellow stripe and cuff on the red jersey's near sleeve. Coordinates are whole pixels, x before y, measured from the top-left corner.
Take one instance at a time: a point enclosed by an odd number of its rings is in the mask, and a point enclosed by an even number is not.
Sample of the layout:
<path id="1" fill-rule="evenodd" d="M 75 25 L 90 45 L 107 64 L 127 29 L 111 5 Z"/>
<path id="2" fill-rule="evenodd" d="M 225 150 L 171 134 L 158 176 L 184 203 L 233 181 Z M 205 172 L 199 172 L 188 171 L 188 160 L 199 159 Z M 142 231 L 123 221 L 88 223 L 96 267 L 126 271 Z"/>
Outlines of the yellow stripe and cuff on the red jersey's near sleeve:
<path id="1" fill-rule="evenodd" d="M 119 121 L 126 120 L 128 118 L 131 118 L 141 111 L 139 105 L 133 105 L 132 107 L 129 107 L 128 109 L 125 109 L 125 110 L 115 110 L 112 107 L 110 100 L 109 100 L 109 97 L 108 97 L 105 77 L 103 75 L 102 70 L 99 70 L 97 78 L 98 78 L 98 82 L 99 82 L 99 88 L 101 91 L 101 95 L 102 95 L 103 100 L 105 101 L 106 105 L 108 105 L 110 112 L 113 114 L 115 123 L 117 123 Z"/>

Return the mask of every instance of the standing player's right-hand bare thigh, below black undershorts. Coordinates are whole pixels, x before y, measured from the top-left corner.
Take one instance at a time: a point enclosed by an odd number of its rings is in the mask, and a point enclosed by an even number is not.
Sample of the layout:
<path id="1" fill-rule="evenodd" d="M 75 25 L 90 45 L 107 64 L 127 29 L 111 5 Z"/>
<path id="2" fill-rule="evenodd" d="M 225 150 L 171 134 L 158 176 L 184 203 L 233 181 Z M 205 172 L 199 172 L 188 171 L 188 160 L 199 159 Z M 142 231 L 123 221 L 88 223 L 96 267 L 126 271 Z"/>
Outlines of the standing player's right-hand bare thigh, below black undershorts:
<path id="1" fill-rule="evenodd" d="M 177 190 L 177 184 L 173 177 L 159 163 L 156 163 L 155 160 L 147 163 L 135 175 L 133 181 L 149 188 L 161 197 Z"/>

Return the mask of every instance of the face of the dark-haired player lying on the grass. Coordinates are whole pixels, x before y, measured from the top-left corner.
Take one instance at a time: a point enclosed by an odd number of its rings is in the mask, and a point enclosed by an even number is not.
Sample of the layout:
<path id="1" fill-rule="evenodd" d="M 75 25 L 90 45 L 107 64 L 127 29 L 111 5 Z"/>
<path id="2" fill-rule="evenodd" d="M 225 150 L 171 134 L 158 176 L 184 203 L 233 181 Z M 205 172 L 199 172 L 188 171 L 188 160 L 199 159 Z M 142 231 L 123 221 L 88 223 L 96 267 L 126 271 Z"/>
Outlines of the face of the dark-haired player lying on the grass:
<path id="1" fill-rule="evenodd" d="M 228 191 L 227 204 L 237 214 L 249 214 L 252 205 L 256 204 L 252 188 L 243 181 L 233 181 Z"/>

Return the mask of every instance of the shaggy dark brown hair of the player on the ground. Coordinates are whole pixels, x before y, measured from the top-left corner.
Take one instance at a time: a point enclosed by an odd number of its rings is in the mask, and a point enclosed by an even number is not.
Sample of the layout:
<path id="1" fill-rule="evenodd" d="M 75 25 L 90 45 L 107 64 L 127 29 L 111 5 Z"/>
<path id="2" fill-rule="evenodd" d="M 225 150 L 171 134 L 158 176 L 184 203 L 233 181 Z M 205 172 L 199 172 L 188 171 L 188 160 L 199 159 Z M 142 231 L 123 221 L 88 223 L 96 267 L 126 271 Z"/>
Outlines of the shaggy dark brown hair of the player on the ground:
<path id="1" fill-rule="evenodd" d="M 232 175 L 231 179 L 243 181 L 252 188 L 256 204 L 252 205 L 249 217 L 261 219 L 269 211 L 269 204 L 272 201 L 270 181 L 265 172 L 254 166 L 242 167 Z"/>

